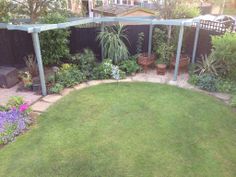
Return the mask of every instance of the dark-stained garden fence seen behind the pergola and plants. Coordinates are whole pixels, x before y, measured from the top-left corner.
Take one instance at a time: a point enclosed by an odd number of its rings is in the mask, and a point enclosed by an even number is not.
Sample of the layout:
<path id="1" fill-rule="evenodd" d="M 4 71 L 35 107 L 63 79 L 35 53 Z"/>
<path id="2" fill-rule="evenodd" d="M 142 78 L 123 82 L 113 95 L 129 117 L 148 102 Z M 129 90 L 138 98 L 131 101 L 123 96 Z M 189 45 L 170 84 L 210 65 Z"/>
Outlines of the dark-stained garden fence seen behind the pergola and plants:
<path id="1" fill-rule="evenodd" d="M 129 43 L 130 54 L 136 53 L 136 41 L 138 33 L 144 32 L 144 49 L 148 48 L 149 25 L 129 25 L 126 27 Z M 71 28 L 70 36 L 70 52 L 76 53 L 84 48 L 91 48 L 98 60 L 101 60 L 101 47 L 96 40 L 96 36 L 100 31 L 99 27 L 94 28 Z M 218 35 L 212 31 L 201 30 L 199 36 L 199 45 L 197 49 L 197 57 L 201 54 L 209 54 L 211 51 L 210 35 Z M 195 36 L 195 29 L 185 30 L 185 52 L 191 56 Z M 0 65 L 20 67 L 24 65 L 23 57 L 34 53 L 31 35 L 21 31 L 0 30 Z"/>

